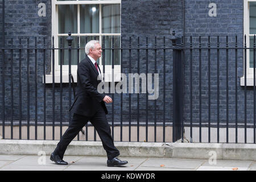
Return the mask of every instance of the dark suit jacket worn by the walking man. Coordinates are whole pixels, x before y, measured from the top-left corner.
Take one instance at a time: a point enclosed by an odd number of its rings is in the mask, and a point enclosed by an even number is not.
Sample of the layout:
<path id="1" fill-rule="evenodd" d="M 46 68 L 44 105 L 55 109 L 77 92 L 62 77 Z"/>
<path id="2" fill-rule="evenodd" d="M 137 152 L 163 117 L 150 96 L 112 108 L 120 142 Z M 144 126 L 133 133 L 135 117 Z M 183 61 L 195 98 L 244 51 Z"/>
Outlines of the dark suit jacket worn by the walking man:
<path id="1" fill-rule="evenodd" d="M 100 70 L 100 68 L 98 67 Z M 73 105 L 69 109 L 73 113 L 92 117 L 102 106 L 108 114 L 103 98 L 105 94 L 97 91 L 101 80 L 97 80 L 98 71 L 86 55 L 77 67 L 77 94 Z"/>

